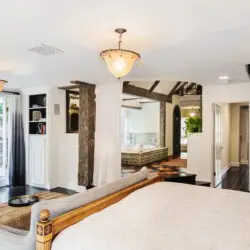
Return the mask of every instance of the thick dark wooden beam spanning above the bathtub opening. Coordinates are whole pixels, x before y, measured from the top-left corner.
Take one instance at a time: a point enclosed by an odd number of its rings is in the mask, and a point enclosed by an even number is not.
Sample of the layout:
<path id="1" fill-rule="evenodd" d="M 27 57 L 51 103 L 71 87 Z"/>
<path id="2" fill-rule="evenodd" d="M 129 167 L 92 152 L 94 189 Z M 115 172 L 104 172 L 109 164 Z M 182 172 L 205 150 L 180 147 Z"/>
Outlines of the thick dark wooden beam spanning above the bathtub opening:
<path id="1" fill-rule="evenodd" d="M 167 95 L 156 92 L 150 93 L 147 89 L 143 89 L 133 85 L 123 85 L 123 93 L 128 95 L 140 96 L 156 101 L 170 102 Z"/>

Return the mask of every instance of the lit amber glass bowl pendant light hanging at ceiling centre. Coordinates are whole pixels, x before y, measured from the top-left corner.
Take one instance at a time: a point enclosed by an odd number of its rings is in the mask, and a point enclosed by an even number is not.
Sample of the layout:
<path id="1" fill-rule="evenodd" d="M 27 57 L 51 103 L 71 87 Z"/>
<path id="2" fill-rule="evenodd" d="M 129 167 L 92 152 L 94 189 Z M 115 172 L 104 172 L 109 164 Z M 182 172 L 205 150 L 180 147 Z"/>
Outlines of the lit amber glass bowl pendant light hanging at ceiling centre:
<path id="1" fill-rule="evenodd" d="M 121 48 L 122 34 L 127 32 L 126 29 L 116 29 L 115 32 L 119 34 L 118 49 L 104 50 L 100 56 L 107 63 L 109 71 L 116 78 L 121 78 L 131 71 L 135 61 L 139 61 L 141 56 L 134 51 Z"/>

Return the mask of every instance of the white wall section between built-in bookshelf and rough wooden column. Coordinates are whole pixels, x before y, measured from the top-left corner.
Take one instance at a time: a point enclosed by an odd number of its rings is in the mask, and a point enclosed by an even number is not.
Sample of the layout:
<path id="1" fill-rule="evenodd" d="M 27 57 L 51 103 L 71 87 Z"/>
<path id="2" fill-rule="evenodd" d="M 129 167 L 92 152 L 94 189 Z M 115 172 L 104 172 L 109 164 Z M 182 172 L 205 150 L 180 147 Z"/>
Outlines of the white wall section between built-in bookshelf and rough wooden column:
<path id="1" fill-rule="evenodd" d="M 51 169 L 54 187 L 78 189 L 78 134 L 66 133 L 66 93 L 51 90 Z M 60 115 L 54 114 L 54 104 L 60 105 Z"/>

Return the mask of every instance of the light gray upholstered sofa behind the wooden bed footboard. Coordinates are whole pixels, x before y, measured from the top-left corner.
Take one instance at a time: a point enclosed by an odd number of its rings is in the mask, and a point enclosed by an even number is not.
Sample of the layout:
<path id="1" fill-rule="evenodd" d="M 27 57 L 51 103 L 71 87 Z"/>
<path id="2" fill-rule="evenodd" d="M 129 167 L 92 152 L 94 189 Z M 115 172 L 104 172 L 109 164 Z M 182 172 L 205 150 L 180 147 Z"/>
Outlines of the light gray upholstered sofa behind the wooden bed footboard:
<path id="1" fill-rule="evenodd" d="M 146 179 L 147 176 L 147 168 L 142 168 L 141 171 L 135 174 L 108 183 L 102 187 L 93 188 L 86 192 L 64 198 L 38 202 L 31 208 L 30 232 L 27 236 L 24 236 L 26 232 L 12 229 L 6 230 L 6 228 L 0 227 L 0 247 L 4 250 L 35 250 L 36 224 L 39 221 L 39 214 L 43 209 L 48 209 L 51 213 L 51 218 L 54 218 L 140 182 Z"/>

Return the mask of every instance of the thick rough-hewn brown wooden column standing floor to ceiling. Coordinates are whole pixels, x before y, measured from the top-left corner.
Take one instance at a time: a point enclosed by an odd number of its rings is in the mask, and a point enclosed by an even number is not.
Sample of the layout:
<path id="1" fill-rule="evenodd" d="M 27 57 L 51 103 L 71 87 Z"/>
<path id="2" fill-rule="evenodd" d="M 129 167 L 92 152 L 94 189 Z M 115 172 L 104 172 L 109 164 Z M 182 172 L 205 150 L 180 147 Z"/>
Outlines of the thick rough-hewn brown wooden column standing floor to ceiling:
<path id="1" fill-rule="evenodd" d="M 93 183 L 95 148 L 95 85 L 79 84 L 79 167 L 78 185 Z"/>

